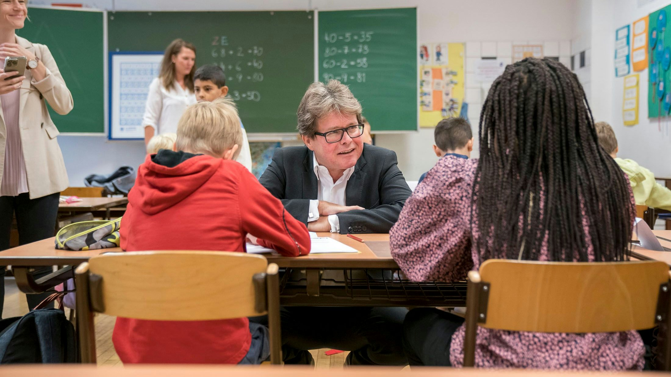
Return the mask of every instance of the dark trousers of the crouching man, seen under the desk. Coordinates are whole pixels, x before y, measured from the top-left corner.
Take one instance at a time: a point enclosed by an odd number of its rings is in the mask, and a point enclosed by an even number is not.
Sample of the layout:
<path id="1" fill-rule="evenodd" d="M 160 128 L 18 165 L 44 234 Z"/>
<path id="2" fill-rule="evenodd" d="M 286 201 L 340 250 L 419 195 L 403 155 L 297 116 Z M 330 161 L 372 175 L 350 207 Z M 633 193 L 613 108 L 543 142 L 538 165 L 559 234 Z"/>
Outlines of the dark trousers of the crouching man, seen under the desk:
<path id="1" fill-rule="evenodd" d="M 351 365 L 406 365 L 401 336 L 405 308 L 285 307 L 282 344 L 287 364 L 310 364 L 308 349 L 350 351 Z"/>

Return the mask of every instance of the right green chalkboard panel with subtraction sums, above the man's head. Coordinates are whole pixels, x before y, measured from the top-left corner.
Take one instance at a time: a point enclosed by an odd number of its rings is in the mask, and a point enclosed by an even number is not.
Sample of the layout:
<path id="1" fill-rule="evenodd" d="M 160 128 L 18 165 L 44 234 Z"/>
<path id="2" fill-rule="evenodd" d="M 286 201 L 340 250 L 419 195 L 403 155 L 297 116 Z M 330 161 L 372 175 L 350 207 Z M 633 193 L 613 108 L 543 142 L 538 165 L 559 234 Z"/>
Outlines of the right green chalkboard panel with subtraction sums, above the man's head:
<path id="1" fill-rule="evenodd" d="M 417 8 L 319 11 L 319 80 L 350 86 L 374 131 L 417 129 Z"/>

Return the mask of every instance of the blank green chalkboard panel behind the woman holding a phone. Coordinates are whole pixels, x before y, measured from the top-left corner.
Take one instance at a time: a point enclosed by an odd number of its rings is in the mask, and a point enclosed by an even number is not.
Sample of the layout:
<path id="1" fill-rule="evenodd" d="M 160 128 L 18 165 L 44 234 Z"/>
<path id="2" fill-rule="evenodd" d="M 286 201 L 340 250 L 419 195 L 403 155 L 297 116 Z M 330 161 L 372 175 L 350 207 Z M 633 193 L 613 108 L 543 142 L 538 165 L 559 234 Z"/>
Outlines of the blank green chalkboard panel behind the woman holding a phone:
<path id="1" fill-rule="evenodd" d="M 103 11 L 30 8 L 30 21 L 17 35 L 45 44 L 62 74 L 74 108 L 50 114 L 61 132 L 105 132 Z"/>

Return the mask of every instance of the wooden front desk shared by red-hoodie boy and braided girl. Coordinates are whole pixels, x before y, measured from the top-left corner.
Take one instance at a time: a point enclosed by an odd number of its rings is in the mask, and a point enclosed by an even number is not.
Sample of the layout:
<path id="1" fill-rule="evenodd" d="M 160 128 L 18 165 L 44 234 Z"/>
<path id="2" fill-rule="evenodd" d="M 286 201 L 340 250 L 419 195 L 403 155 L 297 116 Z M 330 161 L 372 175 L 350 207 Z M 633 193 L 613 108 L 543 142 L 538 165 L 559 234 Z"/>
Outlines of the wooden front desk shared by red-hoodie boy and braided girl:
<path id="1" fill-rule="evenodd" d="M 309 254 L 283 257 L 265 254 L 268 262 L 287 271 L 280 282 L 280 303 L 296 306 L 417 306 L 466 305 L 466 282 L 409 282 L 389 254 L 388 234 L 360 234 L 365 243 L 338 233 L 319 233 L 358 250 L 358 253 Z M 54 249 L 54 238 L 0 252 L 0 266 L 12 266 L 22 292 L 37 293 L 72 277 L 74 268 L 103 252 L 119 248 L 70 252 Z M 31 266 L 66 266 L 38 280 Z M 384 272 L 383 272 L 384 271 Z"/>

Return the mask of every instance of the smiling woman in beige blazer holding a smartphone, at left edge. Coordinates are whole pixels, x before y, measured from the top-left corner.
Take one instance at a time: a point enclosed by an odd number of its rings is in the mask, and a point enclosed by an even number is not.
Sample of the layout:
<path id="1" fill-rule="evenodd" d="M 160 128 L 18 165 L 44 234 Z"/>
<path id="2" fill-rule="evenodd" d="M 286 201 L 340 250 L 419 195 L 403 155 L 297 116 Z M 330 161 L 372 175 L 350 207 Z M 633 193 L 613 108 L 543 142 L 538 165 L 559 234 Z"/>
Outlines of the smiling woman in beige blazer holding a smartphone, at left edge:
<path id="1" fill-rule="evenodd" d="M 24 72 L 22 64 L 8 67 L 18 67 L 18 72 L 0 70 L 0 250 L 9 248 L 14 214 L 19 244 L 52 237 L 58 197 L 68 186 L 56 141 L 58 129 L 46 103 L 56 113 L 65 115 L 72 110 L 72 95 L 49 48 L 16 35 L 28 16 L 26 3 L 0 1 L 0 67 L 5 66 L 7 57 L 26 60 Z M 17 73 L 19 76 L 13 77 Z M 50 271 L 51 268 L 41 268 L 34 274 L 38 278 Z M 5 267 L 0 267 L 0 278 L 4 276 Z M 28 294 L 28 307 L 33 309 L 45 296 Z M 5 286 L 0 284 L 0 313 L 4 297 Z"/>

